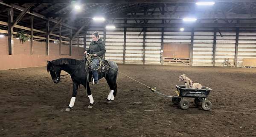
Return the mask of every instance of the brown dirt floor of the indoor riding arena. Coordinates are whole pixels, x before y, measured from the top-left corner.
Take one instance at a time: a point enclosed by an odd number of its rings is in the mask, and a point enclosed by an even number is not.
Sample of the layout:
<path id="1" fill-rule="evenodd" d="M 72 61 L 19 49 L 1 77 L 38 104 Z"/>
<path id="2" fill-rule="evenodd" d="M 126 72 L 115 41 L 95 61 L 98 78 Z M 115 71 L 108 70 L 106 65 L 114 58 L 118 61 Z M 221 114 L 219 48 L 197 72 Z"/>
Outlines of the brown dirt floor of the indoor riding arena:
<path id="1" fill-rule="evenodd" d="M 119 70 L 158 92 L 175 95 L 179 75 L 210 87 L 212 109 L 181 110 L 171 98 L 151 92 L 119 74 L 115 101 L 105 79 L 91 86 L 94 106 L 84 87 L 72 111 L 64 112 L 72 95 L 71 78 L 54 84 L 46 67 L 0 71 L 1 137 L 255 137 L 256 69 L 119 65 Z"/>

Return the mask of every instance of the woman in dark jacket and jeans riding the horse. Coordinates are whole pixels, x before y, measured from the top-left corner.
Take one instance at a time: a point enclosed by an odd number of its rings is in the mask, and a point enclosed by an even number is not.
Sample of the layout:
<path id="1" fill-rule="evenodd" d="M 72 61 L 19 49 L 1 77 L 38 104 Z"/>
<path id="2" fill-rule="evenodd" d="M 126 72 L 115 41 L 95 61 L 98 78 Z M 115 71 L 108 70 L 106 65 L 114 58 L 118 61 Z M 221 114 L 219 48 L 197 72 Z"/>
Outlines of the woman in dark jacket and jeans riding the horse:
<path id="1" fill-rule="evenodd" d="M 106 49 L 105 49 L 104 42 L 102 42 L 102 39 L 99 38 L 99 31 L 95 31 L 92 34 L 92 38 L 93 38 L 93 41 L 90 42 L 90 46 L 86 51 L 84 51 L 84 54 L 86 53 L 93 54 L 91 67 L 93 69 L 98 69 L 99 59 L 97 58 L 97 56 L 103 59 L 106 53 Z M 93 79 L 95 81 L 95 84 L 97 84 L 99 82 L 98 73 L 97 73 L 97 70 L 93 70 L 93 69 L 92 69 Z"/>

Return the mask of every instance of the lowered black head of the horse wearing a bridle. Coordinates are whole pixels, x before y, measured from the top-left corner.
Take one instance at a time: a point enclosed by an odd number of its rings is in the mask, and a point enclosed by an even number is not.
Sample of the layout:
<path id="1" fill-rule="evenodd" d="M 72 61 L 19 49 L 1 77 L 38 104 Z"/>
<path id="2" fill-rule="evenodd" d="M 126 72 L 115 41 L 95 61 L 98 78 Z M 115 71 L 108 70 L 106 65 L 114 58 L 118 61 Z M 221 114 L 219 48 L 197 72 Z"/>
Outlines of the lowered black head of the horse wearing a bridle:
<path id="1" fill-rule="evenodd" d="M 52 62 L 47 61 L 47 72 L 52 76 L 52 81 L 58 83 L 60 81 L 61 67 L 54 65 Z"/>

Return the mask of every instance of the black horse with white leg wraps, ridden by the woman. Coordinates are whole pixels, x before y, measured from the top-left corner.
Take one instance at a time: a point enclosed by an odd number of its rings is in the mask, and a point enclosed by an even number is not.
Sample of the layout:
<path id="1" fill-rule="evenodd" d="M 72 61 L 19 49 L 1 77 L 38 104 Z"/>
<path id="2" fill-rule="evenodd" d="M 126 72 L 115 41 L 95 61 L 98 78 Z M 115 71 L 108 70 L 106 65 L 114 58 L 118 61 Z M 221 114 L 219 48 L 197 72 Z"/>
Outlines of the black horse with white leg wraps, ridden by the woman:
<path id="1" fill-rule="evenodd" d="M 73 93 L 72 98 L 70 100 L 70 104 L 66 111 L 70 111 L 71 108 L 74 106 L 76 100 L 77 89 L 79 84 L 82 84 L 85 89 L 87 89 L 87 95 L 90 100 L 90 105 L 88 108 L 93 107 L 93 96 L 90 90 L 89 82 L 91 81 L 91 73 L 89 73 L 88 68 L 86 67 L 86 59 L 77 60 L 77 59 L 68 59 L 68 58 L 61 58 L 47 61 L 47 72 L 49 72 L 52 76 L 52 81 L 54 83 L 58 83 L 61 77 L 61 70 L 66 71 L 71 75 L 73 81 Z M 118 66 L 115 62 L 108 61 L 108 66 L 105 66 L 105 72 L 98 73 L 99 79 L 105 77 L 107 83 L 111 89 L 107 97 L 107 103 L 111 103 L 116 96 L 117 92 L 117 76 L 118 76 Z M 108 69 L 106 69 L 108 68 Z"/>

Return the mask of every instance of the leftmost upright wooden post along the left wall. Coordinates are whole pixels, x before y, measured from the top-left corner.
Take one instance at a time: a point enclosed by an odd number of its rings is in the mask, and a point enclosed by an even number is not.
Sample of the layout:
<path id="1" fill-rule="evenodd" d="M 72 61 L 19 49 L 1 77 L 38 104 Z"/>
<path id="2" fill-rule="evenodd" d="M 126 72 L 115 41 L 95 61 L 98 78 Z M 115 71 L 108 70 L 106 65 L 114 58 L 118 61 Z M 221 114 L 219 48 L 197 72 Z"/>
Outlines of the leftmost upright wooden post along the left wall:
<path id="1" fill-rule="evenodd" d="M 13 8 L 8 10 L 8 52 L 9 55 L 13 55 Z"/>

